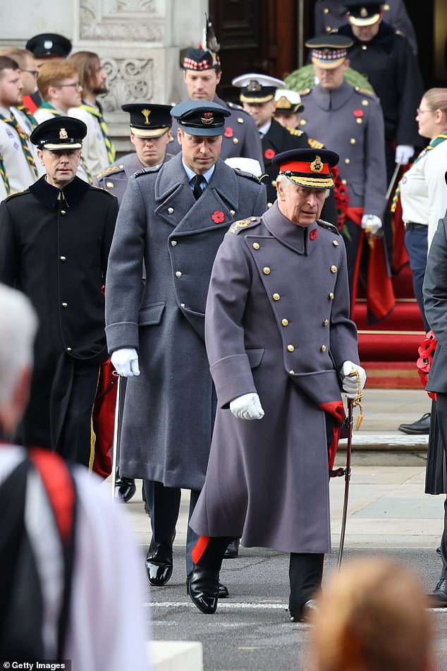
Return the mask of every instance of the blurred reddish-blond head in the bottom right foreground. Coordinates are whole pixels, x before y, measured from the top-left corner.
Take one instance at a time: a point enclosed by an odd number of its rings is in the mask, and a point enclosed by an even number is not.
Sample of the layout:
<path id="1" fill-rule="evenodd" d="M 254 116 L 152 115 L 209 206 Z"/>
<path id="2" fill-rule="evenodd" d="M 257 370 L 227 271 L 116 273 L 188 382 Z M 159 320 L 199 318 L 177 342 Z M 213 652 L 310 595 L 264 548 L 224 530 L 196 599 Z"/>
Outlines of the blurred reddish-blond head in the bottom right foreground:
<path id="1" fill-rule="evenodd" d="M 430 671 L 427 601 L 409 569 L 381 558 L 355 560 L 333 576 L 312 631 L 316 671 Z"/>

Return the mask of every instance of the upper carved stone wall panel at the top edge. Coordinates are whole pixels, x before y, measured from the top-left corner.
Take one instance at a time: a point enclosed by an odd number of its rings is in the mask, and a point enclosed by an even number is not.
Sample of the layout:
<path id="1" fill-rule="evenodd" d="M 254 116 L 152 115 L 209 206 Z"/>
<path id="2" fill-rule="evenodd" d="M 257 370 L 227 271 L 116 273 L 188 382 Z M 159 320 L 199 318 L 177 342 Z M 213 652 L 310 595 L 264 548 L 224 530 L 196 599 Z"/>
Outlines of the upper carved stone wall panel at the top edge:
<path id="1" fill-rule="evenodd" d="M 155 0 L 80 0 L 81 40 L 161 42 L 164 16 Z"/>

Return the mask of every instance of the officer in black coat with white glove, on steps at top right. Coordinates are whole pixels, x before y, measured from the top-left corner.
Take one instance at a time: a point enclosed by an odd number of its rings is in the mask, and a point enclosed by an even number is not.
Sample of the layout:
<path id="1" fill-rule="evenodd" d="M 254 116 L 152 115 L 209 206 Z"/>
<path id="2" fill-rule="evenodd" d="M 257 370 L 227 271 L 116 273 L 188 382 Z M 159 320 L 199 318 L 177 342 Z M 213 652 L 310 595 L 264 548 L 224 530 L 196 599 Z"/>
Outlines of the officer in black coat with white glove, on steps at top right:
<path id="1" fill-rule="evenodd" d="M 338 35 L 353 40 L 350 66 L 368 79 L 380 99 L 389 183 L 395 162 L 407 164 L 421 143 L 415 109 L 424 95 L 422 75 L 407 38 L 385 23 L 380 1 L 347 0 L 346 5 L 348 23 L 338 28 Z"/>

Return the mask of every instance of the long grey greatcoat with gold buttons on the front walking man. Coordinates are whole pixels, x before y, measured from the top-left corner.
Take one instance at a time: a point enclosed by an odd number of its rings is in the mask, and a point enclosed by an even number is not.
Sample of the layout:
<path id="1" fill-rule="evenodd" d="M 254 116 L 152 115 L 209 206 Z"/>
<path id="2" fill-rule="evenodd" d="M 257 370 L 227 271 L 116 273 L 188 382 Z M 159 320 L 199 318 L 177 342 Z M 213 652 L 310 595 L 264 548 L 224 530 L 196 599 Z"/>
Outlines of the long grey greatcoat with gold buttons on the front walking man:
<path id="1" fill-rule="evenodd" d="M 343 418 L 338 372 L 358 363 L 345 246 L 326 222 L 295 226 L 277 203 L 226 234 L 205 332 L 218 409 L 207 478 L 190 520 L 283 552 L 330 550 L 326 413 Z M 257 392 L 259 421 L 232 399 Z"/>

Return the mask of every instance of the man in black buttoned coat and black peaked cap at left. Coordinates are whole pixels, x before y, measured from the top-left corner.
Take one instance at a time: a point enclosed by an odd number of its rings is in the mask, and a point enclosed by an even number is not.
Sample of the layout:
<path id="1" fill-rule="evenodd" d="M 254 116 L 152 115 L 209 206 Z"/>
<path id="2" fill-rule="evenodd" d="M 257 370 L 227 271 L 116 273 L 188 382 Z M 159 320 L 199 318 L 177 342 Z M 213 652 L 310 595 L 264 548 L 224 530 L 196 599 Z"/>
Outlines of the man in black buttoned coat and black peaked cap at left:
<path id="1" fill-rule="evenodd" d="M 91 466 L 92 409 L 108 358 L 102 287 L 118 201 L 76 176 L 85 123 L 56 116 L 30 139 L 47 174 L 0 206 L 0 282 L 39 316 L 30 404 L 18 438 Z"/>

